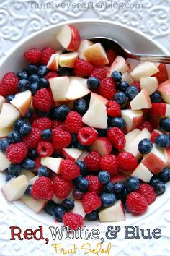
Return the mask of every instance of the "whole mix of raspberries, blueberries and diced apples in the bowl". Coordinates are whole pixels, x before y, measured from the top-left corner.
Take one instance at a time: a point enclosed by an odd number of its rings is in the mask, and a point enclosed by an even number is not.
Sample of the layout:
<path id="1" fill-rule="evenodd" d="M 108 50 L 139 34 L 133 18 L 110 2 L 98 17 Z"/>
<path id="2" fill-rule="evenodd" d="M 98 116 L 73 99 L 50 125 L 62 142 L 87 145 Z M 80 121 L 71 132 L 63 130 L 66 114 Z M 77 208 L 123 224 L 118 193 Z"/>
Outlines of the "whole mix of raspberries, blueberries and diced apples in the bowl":
<path id="1" fill-rule="evenodd" d="M 1 191 L 71 229 L 144 214 L 170 180 L 166 64 L 125 59 L 64 25 L 0 83 Z"/>

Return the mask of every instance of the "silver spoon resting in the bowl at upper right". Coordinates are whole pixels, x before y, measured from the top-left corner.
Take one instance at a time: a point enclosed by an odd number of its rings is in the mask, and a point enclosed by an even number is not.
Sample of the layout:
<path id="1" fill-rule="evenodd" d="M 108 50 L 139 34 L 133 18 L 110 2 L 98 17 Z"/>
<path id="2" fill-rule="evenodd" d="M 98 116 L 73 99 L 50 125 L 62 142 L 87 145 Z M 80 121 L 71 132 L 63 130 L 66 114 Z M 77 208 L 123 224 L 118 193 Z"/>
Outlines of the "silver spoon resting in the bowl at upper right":
<path id="1" fill-rule="evenodd" d="M 94 43 L 102 43 L 104 48 L 113 48 L 117 53 L 121 56 L 124 56 L 125 59 L 138 59 L 139 61 L 153 61 L 153 62 L 160 62 L 164 64 L 170 64 L 170 56 L 162 56 L 162 55 L 151 55 L 151 54 L 133 54 L 116 40 L 112 38 L 105 38 L 105 37 L 94 37 L 94 38 L 87 38 L 87 40 L 91 40 Z"/>

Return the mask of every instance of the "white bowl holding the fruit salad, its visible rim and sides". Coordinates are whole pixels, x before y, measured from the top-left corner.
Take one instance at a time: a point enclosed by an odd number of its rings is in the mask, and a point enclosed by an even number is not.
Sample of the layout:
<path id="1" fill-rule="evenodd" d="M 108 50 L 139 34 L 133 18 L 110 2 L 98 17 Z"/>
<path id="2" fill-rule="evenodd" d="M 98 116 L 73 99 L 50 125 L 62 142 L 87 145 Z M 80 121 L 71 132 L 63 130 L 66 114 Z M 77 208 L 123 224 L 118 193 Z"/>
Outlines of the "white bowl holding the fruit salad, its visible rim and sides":
<path id="1" fill-rule="evenodd" d="M 48 29 L 42 30 L 39 33 L 35 33 L 34 35 L 30 35 L 29 37 L 22 40 L 17 46 L 12 48 L 7 54 L 4 61 L 1 63 L 0 67 L 0 77 L 2 77 L 6 72 L 13 71 L 18 72 L 26 67 L 27 63 L 24 61 L 23 53 L 29 48 L 39 47 L 43 48 L 45 46 L 53 46 L 54 48 L 58 48 L 58 43 L 55 40 L 55 35 L 57 30 L 63 26 L 65 23 L 61 23 L 59 25 L 55 25 L 53 27 L 49 27 Z M 140 33 L 140 31 L 131 29 L 124 25 L 117 24 L 115 22 L 102 22 L 99 20 L 80 20 L 79 22 L 73 21 L 71 24 L 79 30 L 81 38 L 90 38 L 94 36 L 106 36 L 109 38 L 114 38 L 118 42 L 122 43 L 123 46 L 130 49 L 134 53 L 140 54 L 168 54 L 168 52 L 160 46 L 155 41 L 148 38 L 147 35 Z M 5 183 L 5 175 L 0 174 L 0 187 Z M 147 212 L 141 216 L 132 216 L 131 214 L 126 215 L 126 220 L 117 223 L 120 226 L 125 226 L 125 224 L 137 223 L 143 218 L 147 218 L 148 216 L 156 215 L 156 211 L 158 208 L 161 208 L 162 205 L 166 202 L 170 194 L 170 186 L 166 186 L 166 192 L 164 195 L 161 195 L 156 198 L 156 202 L 153 202 L 151 206 L 149 206 Z M 3 195 L 0 195 L 3 197 Z M 12 202 L 17 206 L 22 212 L 36 219 L 39 223 L 42 222 L 45 225 L 50 226 L 53 217 L 49 216 L 47 213 L 41 212 L 39 214 L 35 214 L 27 208 L 22 202 Z M 100 229 L 104 230 L 109 223 L 100 223 L 99 221 L 86 221 L 86 226 L 92 228 L 94 226 L 99 226 Z"/>

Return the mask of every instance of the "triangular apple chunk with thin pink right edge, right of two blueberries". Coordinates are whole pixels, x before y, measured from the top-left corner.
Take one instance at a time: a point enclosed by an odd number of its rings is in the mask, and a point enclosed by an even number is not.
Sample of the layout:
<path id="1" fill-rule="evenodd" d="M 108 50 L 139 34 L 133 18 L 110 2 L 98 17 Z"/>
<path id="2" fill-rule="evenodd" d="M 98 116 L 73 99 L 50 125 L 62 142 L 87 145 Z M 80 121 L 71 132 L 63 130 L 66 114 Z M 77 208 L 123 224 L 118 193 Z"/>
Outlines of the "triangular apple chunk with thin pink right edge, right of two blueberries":
<path id="1" fill-rule="evenodd" d="M 146 89 L 142 89 L 140 93 L 138 93 L 135 96 L 135 98 L 133 98 L 133 100 L 130 101 L 130 106 L 132 110 L 139 110 L 143 108 L 148 109 L 152 107 L 151 99 L 148 93 L 146 92 Z"/>

